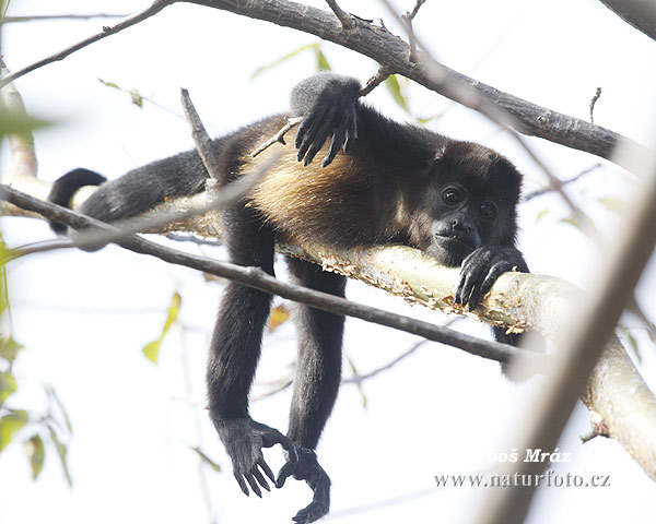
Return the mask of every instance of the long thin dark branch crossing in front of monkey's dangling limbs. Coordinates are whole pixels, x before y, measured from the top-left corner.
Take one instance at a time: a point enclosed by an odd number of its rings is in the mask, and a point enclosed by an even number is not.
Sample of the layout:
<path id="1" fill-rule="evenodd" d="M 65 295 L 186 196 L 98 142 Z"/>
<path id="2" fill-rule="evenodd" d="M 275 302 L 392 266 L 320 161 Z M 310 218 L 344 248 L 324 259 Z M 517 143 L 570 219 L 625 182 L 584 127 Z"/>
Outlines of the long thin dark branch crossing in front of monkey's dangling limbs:
<path id="1" fill-rule="evenodd" d="M 99 229 L 109 229 L 112 234 L 114 234 L 116 229 L 114 226 L 81 215 L 67 207 L 39 201 L 7 186 L 0 186 L 0 196 L 1 200 L 7 200 L 20 207 L 39 213 L 48 221 L 60 222 L 77 229 L 95 227 Z M 244 267 L 204 257 L 184 253 L 151 242 L 136 235 L 122 235 L 120 238 L 116 239 L 115 243 L 131 251 L 150 254 L 173 264 L 185 265 L 216 276 L 230 278 L 248 287 L 254 287 L 290 300 L 300 301 L 323 311 L 354 317 L 367 322 L 394 327 L 399 331 L 423 336 L 430 341 L 458 347 L 472 355 L 490 358 L 492 360 L 507 362 L 512 358 L 525 354 L 529 354 L 527 355 L 527 358 L 535 359 L 534 361 L 536 364 L 541 364 L 547 358 L 544 355 L 536 354 L 535 352 L 527 352 L 526 349 L 500 344 L 497 342 L 482 341 L 465 333 L 458 333 L 435 325 L 431 322 L 420 321 L 410 317 L 352 302 L 327 293 L 288 284 L 270 276 L 259 267 Z M 13 258 L 20 254 L 21 253 L 15 253 Z"/>

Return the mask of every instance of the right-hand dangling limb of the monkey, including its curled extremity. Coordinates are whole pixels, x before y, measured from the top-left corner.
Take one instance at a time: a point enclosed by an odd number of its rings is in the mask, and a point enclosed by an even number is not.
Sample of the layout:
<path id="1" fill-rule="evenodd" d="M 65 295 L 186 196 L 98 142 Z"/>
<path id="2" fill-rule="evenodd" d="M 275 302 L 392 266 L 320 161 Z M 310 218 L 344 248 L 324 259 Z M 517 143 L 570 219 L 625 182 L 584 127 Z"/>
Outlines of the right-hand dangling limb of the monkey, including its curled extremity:
<path id="1" fill-rule="evenodd" d="M 290 260 L 294 278 L 313 289 L 344 296 L 345 278 L 301 260 Z M 341 347 L 344 319 L 341 315 L 300 306 L 298 361 L 290 412 L 288 437 L 296 442 L 298 461 L 288 462 L 278 476 L 281 487 L 289 476 L 305 480 L 314 491 L 313 501 L 293 517 L 314 522 L 330 507 L 330 478 L 317 462 L 316 448 L 330 416 L 341 378 Z"/>

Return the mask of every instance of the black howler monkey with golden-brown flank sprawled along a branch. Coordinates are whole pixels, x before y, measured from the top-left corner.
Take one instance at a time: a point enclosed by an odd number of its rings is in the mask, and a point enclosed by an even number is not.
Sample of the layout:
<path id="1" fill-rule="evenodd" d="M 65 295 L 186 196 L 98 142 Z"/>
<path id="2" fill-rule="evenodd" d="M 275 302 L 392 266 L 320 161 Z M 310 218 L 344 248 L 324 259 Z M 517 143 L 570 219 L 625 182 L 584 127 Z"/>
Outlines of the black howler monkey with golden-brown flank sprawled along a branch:
<path id="1" fill-rule="evenodd" d="M 276 239 L 312 241 L 333 249 L 400 242 L 440 263 L 460 266 L 455 301 L 473 308 L 496 277 L 527 272 L 515 248 L 516 204 L 522 177 L 503 156 L 482 145 L 449 140 L 398 123 L 359 100 L 358 81 L 331 73 L 301 82 L 292 115 L 303 116 L 294 146 L 277 143 L 249 153 L 273 136 L 285 115 L 270 117 L 212 142 L 222 183 L 279 158 L 243 200 L 223 211 L 232 262 L 273 274 Z M 323 162 L 313 162 L 320 155 Z M 99 176 L 77 169 L 55 182 L 51 200 L 68 204 Z M 140 213 L 165 198 L 203 190 L 208 174 L 196 151 L 134 169 L 103 183 L 81 211 L 112 222 Z M 294 281 L 343 296 L 345 279 L 308 262 L 289 259 Z M 242 490 L 258 496 L 293 476 L 314 491 L 294 521 L 328 512 L 330 479 L 314 452 L 340 383 L 343 318 L 300 306 L 298 360 L 289 429 L 255 421 L 248 414 L 262 330 L 271 296 L 227 283 L 211 342 L 207 383 L 210 416 L 232 460 Z M 497 341 L 517 335 L 495 329 Z M 282 444 L 286 462 L 278 478 L 262 448 Z"/>

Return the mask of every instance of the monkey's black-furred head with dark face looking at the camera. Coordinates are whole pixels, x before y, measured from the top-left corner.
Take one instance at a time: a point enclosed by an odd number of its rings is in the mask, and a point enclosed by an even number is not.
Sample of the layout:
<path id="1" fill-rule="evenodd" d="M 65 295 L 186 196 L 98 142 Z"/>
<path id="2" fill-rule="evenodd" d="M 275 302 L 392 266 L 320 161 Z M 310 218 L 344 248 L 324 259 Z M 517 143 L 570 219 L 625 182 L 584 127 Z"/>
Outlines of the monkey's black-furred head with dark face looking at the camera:
<path id="1" fill-rule="evenodd" d="M 449 141 L 433 163 L 425 198 L 430 210 L 426 252 L 460 265 L 481 246 L 514 246 L 522 175 L 482 145 Z"/>

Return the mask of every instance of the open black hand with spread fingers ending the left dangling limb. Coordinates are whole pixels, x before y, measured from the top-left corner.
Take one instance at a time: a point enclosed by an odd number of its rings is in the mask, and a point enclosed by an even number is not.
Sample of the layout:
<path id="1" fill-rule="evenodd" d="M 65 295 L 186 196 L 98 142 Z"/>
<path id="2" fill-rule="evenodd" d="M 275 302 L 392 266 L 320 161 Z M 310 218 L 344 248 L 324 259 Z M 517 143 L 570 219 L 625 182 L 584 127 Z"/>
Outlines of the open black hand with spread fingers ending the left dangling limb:
<path id="1" fill-rule="evenodd" d="M 262 473 L 276 483 L 273 472 L 265 462 L 262 448 L 281 444 L 286 451 L 289 464 L 298 460 L 293 441 L 277 429 L 256 422 L 251 418 L 221 419 L 214 425 L 232 460 L 233 474 L 246 496 L 249 495 L 248 486 L 258 497 L 262 496 L 260 486 L 267 491 L 271 490 Z"/>

